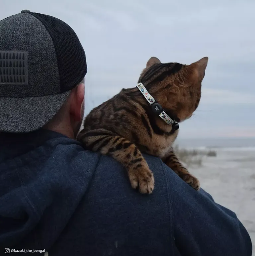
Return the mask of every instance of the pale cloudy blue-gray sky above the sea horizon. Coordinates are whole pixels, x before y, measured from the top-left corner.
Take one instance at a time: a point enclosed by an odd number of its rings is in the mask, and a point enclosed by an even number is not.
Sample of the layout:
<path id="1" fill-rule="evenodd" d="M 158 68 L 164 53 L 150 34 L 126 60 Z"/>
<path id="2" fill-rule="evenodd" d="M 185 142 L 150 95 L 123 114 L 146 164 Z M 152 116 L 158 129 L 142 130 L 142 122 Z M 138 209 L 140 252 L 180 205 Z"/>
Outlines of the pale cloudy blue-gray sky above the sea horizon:
<path id="1" fill-rule="evenodd" d="M 152 56 L 182 64 L 207 56 L 199 107 L 179 138 L 255 137 L 254 0 L 2 0 L 0 20 L 24 9 L 78 35 L 88 65 L 85 114 L 135 87 Z"/>

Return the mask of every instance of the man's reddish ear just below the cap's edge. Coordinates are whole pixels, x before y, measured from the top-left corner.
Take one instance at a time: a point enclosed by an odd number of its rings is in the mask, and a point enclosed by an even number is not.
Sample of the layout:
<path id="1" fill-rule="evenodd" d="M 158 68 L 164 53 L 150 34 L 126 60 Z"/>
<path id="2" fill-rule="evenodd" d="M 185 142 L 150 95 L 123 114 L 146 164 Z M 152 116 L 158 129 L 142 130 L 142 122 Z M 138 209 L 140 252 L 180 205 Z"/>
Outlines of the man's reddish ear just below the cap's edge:
<path id="1" fill-rule="evenodd" d="M 82 116 L 82 106 L 84 101 L 85 86 L 84 83 L 78 84 L 72 91 L 70 97 L 70 115 L 72 120 L 80 122 Z"/>

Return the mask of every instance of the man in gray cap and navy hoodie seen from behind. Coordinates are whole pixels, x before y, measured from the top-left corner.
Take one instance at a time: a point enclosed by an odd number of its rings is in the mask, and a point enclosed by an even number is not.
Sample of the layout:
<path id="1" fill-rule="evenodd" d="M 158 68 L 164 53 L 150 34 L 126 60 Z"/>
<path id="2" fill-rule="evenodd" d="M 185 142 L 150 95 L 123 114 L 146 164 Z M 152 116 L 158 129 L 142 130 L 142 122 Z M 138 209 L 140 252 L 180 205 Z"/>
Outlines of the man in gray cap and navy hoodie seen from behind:
<path id="1" fill-rule="evenodd" d="M 113 158 L 83 149 L 86 72 L 64 22 L 29 10 L 0 21 L 0 255 L 250 256 L 235 213 L 159 158 L 145 155 L 144 195 Z"/>

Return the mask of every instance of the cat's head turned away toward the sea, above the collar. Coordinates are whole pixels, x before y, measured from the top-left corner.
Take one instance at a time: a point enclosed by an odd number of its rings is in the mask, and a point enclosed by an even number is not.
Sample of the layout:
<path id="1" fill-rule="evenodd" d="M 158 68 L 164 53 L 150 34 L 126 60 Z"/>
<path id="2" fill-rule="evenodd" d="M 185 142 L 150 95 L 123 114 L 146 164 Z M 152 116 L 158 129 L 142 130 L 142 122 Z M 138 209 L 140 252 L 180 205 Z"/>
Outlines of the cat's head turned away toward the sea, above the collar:
<path id="1" fill-rule="evenodd" d="M 190 65 L 161 63 L 151 57 L 138 83 L 143 83 L 170 117 L 181 122 L 190 118 L 198 107 L 207 63 L 208 57 Z"/>

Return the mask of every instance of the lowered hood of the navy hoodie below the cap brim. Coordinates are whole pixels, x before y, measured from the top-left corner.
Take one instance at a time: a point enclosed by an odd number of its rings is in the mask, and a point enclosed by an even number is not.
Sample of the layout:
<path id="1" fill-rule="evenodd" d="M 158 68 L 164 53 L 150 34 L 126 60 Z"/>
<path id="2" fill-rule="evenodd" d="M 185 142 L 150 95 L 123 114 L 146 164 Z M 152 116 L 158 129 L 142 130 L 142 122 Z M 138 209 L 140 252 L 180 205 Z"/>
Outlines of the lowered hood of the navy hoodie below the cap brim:
<path id="1" fill-rule="evenodd" d="M 0 133 L 1 250 L 50 248 L 86 194 L 98 160 L 52 131 Z"/>

